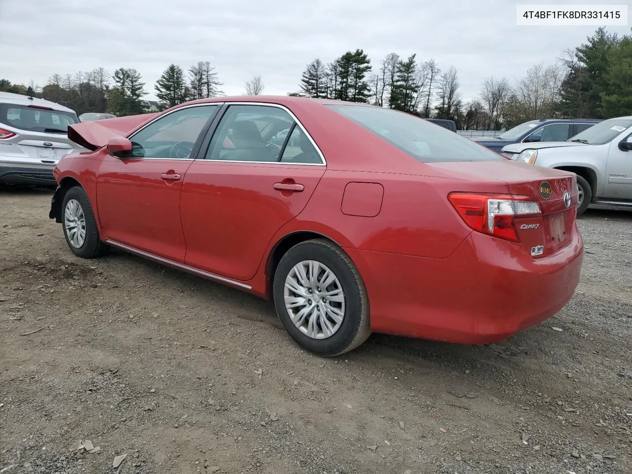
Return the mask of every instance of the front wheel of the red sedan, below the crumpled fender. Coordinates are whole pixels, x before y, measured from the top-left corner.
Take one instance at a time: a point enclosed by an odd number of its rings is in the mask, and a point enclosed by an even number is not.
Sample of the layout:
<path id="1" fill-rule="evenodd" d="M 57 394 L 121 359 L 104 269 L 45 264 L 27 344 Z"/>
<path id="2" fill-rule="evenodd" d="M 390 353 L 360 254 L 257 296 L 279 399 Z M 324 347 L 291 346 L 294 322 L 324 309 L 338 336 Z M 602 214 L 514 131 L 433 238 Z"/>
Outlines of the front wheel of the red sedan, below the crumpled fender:
<path id="1" fill-rule="evenodd" d="M 61 212 L 66 243 L 77 257 L 95 258 L 107 252 L 107 246 L 99 239 L 90 200 L 81 186 L 66 191 Z"/>

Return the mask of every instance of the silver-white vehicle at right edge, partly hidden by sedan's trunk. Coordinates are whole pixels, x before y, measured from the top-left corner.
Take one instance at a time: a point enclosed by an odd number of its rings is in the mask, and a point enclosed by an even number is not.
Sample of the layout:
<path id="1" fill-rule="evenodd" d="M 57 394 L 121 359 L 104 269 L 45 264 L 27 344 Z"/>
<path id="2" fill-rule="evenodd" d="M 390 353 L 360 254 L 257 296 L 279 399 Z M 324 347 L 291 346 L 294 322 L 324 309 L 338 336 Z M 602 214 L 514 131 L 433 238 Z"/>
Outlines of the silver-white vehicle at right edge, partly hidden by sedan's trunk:
<path id="1" fill-rule="evenodd" d="M 565 142 L 507 145 L 501 154 L 576 173 L 578 215 L 592 202 L 632 206 L 632 116 L 604 120 Z"/>

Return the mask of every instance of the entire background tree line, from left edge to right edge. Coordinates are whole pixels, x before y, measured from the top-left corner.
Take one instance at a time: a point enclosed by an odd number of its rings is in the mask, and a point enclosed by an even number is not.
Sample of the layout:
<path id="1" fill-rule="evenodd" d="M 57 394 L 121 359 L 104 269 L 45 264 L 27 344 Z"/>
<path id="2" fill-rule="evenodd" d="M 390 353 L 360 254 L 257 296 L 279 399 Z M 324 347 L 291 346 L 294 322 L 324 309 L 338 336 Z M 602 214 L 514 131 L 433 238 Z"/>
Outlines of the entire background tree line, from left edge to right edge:
<path id="1" fill-rule="evenodd" d="M 55 74 L 41 89 L 32 82 L 15 85 L 0 79 L 0 90 L 39 95 L 78 113 L 142 113 L 147 94 L 140 73 L 103 68 L 75 75 Z M 222 82 L 209 61 L 188 70 L 170 64 L 155 83 L 159 109 L 191 99 L 223 95 Z M 619 37 L 599 28 L 580 46 L 561 53 L 550 66 L 535 64 L 512 82 L 483 80 L 477 97 L 465 100 L 458 70 L 441 68 L 434 59 L 391 52 L 377 64 L 362 49 L 347 51 L 330 63 L 307 64 L 298 92 L 288 95 L 363 102 L 424 118 L 452 119 L 461 130 L 502 130 L 540 118 L 611 118 L 632 114 L 632 36 Z M 264 90 L 260 75 L 245 83 L 245 93 Z"/>

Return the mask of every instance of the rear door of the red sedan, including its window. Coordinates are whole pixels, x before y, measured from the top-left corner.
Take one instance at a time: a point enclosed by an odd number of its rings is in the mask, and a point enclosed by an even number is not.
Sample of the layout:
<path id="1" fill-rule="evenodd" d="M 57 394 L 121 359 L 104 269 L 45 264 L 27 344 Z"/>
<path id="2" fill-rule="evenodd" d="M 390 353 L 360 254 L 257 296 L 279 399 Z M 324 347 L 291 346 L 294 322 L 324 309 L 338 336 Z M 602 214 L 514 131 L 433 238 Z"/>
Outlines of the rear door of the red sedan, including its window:
<path id="1" fill-rule="evenodd" d="M 286 109 L 262 104 L 229 106 L 200 155 L 181 195 L 185 262 L 251 279 L 272 236 L 307 205 L 322 155 Z"/>

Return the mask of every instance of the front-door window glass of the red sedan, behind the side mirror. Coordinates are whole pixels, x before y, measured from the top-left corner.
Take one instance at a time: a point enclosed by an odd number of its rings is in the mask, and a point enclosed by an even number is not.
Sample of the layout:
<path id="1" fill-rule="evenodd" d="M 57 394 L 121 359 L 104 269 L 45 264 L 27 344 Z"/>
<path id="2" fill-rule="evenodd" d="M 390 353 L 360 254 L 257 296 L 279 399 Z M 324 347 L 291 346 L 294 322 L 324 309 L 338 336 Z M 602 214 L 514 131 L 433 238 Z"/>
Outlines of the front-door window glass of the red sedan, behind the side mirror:
<path id="1" fill-rule="evenodd" d="M 186 107 L 150 123 L 130 137 L 130 158 L 190 158 L 204 125 L 217 112 L 216 104 Z"/>

